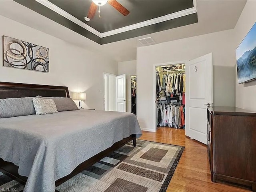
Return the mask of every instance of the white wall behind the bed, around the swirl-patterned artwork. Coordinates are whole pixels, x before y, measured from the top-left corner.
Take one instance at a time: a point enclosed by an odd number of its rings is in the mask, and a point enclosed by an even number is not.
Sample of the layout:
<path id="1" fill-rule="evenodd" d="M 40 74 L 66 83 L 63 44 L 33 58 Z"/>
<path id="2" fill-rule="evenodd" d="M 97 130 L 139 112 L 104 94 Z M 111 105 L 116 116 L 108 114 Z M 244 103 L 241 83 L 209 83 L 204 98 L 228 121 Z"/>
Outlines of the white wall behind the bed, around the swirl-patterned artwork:
<path id="1" fill-rule="evenodd" d="M 3 16 L 0 16 L 0 24 L 0 35 L 50 48 L 49 73 L 1 64 L 0 81 L 68 86 L 70 92 L 86 92 L 84 108 L 103 110 L 103 72 L 117 74 L 116 62 Z M 0 60 L 3 60 L 2 54 Z"/>

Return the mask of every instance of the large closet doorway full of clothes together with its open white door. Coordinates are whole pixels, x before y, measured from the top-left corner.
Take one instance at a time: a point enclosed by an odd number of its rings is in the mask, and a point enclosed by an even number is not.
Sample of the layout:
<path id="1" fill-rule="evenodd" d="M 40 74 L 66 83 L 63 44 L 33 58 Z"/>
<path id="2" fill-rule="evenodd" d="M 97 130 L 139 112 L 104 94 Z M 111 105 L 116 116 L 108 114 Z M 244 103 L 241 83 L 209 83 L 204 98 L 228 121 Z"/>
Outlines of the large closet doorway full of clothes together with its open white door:
<path id="1" fill-rule="evenodd" d="M 212 53 L 154 65 L 155 131 L 185 129 L 186 136 L 207 144 L 207 110 L 213 106 Z"/>

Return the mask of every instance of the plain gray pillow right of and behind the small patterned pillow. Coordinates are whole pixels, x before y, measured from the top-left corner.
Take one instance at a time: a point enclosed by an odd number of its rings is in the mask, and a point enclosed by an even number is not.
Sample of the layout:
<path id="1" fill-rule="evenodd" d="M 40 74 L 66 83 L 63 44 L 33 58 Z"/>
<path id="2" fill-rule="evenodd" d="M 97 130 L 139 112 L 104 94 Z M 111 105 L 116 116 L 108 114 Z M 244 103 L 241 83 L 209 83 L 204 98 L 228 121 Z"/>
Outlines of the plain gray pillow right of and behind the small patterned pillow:
<path id="1" fill-rule="evenodd" d="M 78 110 L 78 107 L 76 106 L 75 102 L 72 100 L 72 98 L 67 97 L 42 97 L 37 96 L 45 99 L 52 99 L 54 100 L 57 111 L 72 111 L 72 110 Z"/>

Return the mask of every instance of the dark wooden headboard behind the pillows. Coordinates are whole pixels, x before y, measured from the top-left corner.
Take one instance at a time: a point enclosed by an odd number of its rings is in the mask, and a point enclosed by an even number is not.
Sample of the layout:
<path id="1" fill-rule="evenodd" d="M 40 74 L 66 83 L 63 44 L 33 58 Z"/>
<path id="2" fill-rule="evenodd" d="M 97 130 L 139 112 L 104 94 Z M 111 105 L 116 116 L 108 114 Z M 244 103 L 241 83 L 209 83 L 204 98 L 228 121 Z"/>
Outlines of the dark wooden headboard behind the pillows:
<path id="1" fill-rule="evenodd" d="M 0 99 L 20 97 L 69 97 L 68 87 L 0 82 Z"/>

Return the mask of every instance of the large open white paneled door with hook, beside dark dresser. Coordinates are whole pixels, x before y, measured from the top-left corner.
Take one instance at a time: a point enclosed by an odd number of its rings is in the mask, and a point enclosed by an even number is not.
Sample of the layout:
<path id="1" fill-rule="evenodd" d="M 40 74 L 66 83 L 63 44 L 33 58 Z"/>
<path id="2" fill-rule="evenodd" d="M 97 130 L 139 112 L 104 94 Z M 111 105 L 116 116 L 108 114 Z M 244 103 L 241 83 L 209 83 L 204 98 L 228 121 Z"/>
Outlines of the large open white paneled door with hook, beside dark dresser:
<path id="1" fill-rule="evenodd" d="M 186 136 L 207 144 L 207 108 L 212 106 L 212 53 L 186 63 Z"/>

